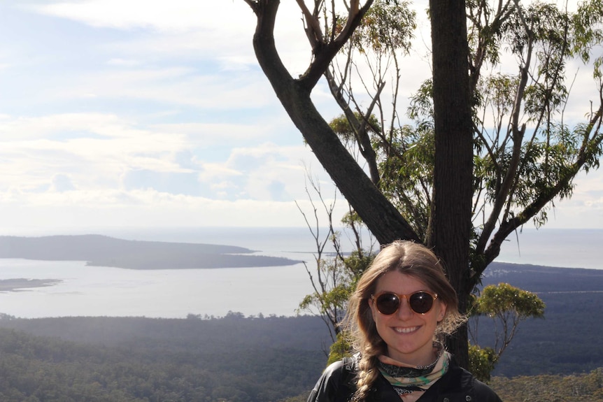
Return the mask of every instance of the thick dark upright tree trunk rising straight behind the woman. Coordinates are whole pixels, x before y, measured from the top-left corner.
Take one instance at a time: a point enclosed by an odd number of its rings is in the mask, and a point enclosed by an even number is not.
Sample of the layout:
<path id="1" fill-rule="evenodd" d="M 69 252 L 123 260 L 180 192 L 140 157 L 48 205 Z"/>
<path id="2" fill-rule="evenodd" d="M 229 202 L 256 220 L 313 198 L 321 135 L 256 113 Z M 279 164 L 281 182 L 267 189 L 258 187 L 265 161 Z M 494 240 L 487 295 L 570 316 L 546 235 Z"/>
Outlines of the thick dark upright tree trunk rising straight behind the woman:
<path id="1" fill-rule="evenodd" d="M 434 196 L 428 244 L 444 261 L 467 310 L 473 183 L 469 50 L 464 1 L 430 0 L 435 131 Z M 467 327 L 448 339 L 458 363 L 469 364 Z"/>

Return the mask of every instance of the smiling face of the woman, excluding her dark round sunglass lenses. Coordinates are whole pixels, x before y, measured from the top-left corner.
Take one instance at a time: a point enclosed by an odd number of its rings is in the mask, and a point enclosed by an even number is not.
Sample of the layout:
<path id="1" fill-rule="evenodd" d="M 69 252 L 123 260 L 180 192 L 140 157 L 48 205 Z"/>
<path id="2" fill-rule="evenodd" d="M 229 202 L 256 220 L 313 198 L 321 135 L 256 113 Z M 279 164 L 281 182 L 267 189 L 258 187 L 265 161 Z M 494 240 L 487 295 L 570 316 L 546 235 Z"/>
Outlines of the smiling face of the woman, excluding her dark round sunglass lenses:
<path id="1" fill-rule="evenodd" d="M 433 290 L 428 289 L 420 280 L 404 273 L 390 271 L 377 280 L 375 294 L 392 292 L 410 295 L 420 290 L 433 293 Z M 397 312 L 392 315 L 380 313 L 374 300 L 371 299 L 369 303 L 377 332 L 388 345 L 389 357 L 413 366 L 432 363 L 435 358 L 434 332 L 437 323 L 446 313 L 444 303 L 436 299 L 430 311 L 419 314 L 411 309 L 408 299 L 404 298 Z"/>

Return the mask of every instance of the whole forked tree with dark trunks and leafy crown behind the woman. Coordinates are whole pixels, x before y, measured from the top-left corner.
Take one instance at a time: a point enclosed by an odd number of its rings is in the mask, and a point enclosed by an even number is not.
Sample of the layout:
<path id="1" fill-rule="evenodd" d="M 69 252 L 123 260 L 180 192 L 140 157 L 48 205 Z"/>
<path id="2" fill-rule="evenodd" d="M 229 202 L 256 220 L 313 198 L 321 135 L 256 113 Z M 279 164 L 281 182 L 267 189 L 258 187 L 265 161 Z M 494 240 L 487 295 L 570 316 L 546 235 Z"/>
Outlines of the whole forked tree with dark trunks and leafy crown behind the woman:
<path id="1" fill-rule="evenodd" d="M 353 81 L 348 73 L 354 69 L 346 66 L 355 66 L 362 52 L 373 51 L 354 45 L 367 43 L 355 42 L 354 35 L 363 33 L 362 21 L 370 17 L 373 1 L 344 2 L 339 8 L 334 1 L 316 0 L 313 8 L 297 1 L 312 54 L 308 69 L 297 78 L 285 69 L 274 44 L 278 1 L 246 3 L 257 16 L 253 45 L 258 62 L 341 194 L 379 243 L 402 238 L 434 247 L 446 263 L 462 310 L 506 237 L 530 220 L 545 224 L 554 202 L 572 195 L 576 174 L 599 166 L 601 58 L 590 57 L 603 43 L 600 0 L 581 3 L 575 13 L 544 3 L 524 6 L 519 0 L 468 0 L 466 5 L 433 0 L 433 78 L 413 96 L 409 117 L 414 124 L 399 124 L 397 92 L 390 118 L 384 117 L 388 103 L 381 99 L 382 71 L 371 71 L 372 82 L 381 85 L 375 85 L 368 106 L 351 95 L 350 83 L 369 82 Z M 384 5 L 405 3 L 376 2 L 376 9 Z M 504 50 L 518 73 L 502 68 Z M 342 54 L 350 61 L 343 63 L 346 74 L 334 86 L 338 76 L 333 66 Z M 597 99 L 583 101 L 586 117 L 570 127 L 564 118 L 570 92 L 567 66 L 574 60 L 592 67 Z M 394 62 L 392 70 L 396 82 L 402 65 Z M 323 76 L 329 87 L 339 88 L 334 95 L 340 96 L 354 141 L 339 136 L 313 105 L 311 92 Z M 372 115 L 380 120 L 378 126 Z M 430 141 L 431 156 L 427 147 L 416 152 L 416 145 Z M 413 158 L 422 163 L 409 166 Z M 425 166 L 431 166 L 427 173 L 432 177 L 412 172 Z M 417 193 L 422 196 L 413 203 Z M 449 340 L 464 366 L 466 340 L 466 329 Z"/>

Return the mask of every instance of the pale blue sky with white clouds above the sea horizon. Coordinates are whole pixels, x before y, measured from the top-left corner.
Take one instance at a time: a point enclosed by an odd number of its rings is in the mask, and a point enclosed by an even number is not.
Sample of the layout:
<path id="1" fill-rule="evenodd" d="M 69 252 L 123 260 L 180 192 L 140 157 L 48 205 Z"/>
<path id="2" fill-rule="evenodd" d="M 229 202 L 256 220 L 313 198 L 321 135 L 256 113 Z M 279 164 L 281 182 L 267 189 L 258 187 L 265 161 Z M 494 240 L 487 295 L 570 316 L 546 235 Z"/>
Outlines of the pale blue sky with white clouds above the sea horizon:
<path id="1" fill-rule="evenodd" d="M 310 57 L 296 7 L 281 1 L 276 26 L 294 76 Z M 258 66 L 254 29 L 243 0 L 0 0 L 0 233 L 304 227 L 308 175 L 335 190 Z M 405 63 L 411 94 L 429 62 Z M 324 87 L 313 99 L 340 113 Z M 603 228 L 603 172 L 580 175 L 547 227 Z"/>

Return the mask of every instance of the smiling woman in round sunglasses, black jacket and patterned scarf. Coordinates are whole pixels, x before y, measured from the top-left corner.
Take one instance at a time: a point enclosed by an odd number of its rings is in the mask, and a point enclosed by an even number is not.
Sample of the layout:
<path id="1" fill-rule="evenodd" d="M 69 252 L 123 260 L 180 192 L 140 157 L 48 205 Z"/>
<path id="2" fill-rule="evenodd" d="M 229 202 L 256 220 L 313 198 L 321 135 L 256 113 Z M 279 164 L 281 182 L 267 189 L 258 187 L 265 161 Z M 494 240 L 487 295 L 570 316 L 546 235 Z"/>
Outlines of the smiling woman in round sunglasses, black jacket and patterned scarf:
<path id="1" fill-rule="evenodd" d="M 427 247 L 384 247 L 348 302 L 356 354 L 327 367 L 308 402 L 500 402 L 444 350 L 444 335 L 464 322 L 457 305 Z"/>

